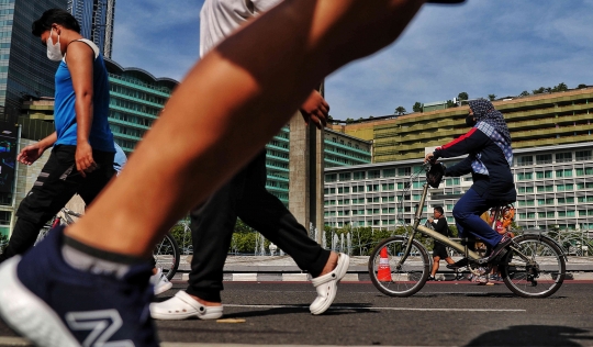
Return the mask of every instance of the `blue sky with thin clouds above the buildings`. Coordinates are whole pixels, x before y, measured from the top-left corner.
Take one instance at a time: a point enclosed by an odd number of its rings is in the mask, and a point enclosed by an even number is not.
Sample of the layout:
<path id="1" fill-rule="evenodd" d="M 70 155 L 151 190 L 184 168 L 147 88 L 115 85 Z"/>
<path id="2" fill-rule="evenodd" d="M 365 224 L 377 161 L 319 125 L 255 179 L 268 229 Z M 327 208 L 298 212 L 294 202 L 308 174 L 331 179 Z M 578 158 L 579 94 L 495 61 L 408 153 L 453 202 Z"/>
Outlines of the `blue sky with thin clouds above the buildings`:
<path id="1" fill-rule="evenodd" d="M 203 0 L 116 2 L 112 58 L 181 80 L 198 59 Z M 593 85 L 593 0 L 468 0 L 424 5 L 394 45 L 334 72 L 335 119 L 392 114 L 457 97 Z"/>

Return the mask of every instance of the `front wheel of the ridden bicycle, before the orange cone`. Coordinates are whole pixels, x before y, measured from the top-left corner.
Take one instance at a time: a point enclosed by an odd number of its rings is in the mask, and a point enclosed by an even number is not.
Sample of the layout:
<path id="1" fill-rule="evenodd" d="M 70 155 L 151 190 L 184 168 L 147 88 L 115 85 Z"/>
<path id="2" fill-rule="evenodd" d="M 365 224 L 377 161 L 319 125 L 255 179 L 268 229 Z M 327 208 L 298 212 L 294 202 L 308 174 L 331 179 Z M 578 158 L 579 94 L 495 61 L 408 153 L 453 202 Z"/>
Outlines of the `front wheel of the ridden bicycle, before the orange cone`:
<path id="1" fill-rule="evenodd" d="M 392 236 L 380 242 L 369 257 L 372 284 L 385 295 L 413 295 L 424 287 L 430 273 L 428 253 L 415 239 L 412 240 L 410 255 L 399 266 L 406 245 L 407 238 Z"/>

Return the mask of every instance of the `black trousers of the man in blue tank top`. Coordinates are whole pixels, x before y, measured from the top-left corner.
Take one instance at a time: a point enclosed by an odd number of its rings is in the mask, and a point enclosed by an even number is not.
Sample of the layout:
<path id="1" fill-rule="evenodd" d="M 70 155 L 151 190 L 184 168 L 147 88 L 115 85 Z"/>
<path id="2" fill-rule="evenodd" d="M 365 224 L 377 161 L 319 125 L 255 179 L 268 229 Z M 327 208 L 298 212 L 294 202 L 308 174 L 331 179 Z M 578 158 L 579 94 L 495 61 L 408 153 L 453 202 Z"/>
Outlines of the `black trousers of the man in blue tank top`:
<path id="1" fill-rule="evenodd" d="M 76 146 L 58 145 L 52 149 L 33 189 L 19 205 L 19 220 L 12 231 L 0 262 L 33 246 L 40 230 L 78 193 L 87 206 L 114 176 L 114 153 L 93 150 L 92 157 L 99 168 L 87 177 L 76 169 Z"/>

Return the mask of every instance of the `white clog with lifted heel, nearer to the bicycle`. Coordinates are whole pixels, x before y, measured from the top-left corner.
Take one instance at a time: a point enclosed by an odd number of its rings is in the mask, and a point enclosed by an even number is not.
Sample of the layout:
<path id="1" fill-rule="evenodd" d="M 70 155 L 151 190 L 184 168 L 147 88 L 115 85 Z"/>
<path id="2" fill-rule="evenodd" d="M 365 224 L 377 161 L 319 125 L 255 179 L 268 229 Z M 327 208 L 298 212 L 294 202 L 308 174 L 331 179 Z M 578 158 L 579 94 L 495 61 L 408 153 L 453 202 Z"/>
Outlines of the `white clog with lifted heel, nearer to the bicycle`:
<path id="1" fill-rule="evenodd" d="M 332 272 L 311 280 L 313 287 L 317 290 L 317 298 L 309 306 L 312 314 L 322 314 L 329 309 L 334 299 L 336 299 L 337 284 L 348 272 L 349 266 L 350 257 L 340 253 L 336 268 Z"/>

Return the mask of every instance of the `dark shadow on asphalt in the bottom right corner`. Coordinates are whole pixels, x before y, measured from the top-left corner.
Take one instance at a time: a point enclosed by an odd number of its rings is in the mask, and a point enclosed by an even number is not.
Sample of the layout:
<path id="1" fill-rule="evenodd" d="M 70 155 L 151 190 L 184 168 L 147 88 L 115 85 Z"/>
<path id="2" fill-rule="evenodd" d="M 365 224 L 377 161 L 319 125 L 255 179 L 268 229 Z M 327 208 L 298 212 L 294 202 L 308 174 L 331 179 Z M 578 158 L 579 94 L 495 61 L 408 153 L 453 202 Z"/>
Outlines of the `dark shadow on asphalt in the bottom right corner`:
<path id="1" fill-rule="evenodd" d="M 466 346 L 583 346 L 579 340 L 593 340 L 588 333 L 570 326 L 515 325 L 484 333 Z"/>

